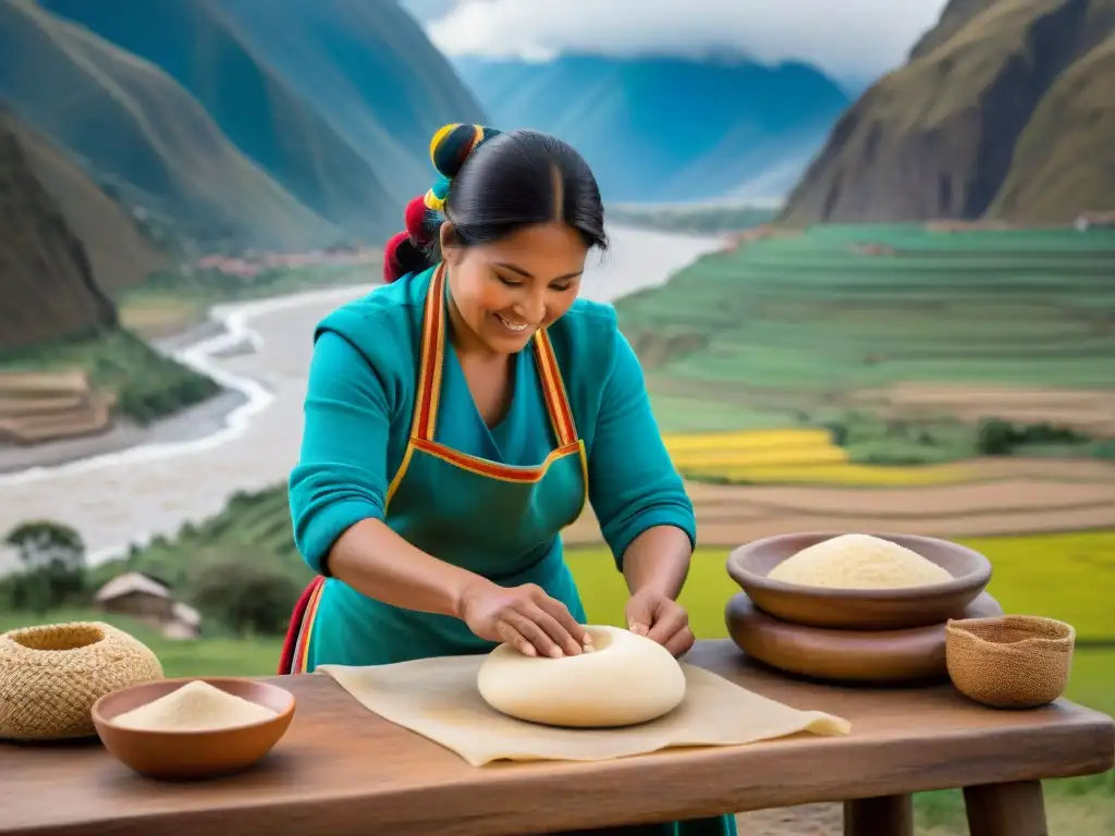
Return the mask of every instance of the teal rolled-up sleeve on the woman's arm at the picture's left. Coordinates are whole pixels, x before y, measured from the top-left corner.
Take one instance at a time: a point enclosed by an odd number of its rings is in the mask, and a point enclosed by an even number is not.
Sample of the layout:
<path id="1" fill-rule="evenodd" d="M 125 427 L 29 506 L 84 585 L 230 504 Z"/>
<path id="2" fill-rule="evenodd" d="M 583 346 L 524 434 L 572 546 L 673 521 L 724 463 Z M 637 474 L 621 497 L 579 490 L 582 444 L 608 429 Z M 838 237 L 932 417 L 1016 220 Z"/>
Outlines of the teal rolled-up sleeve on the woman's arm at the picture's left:
<path id="1" fill-rule="evenodd" d="M 294 542 L 306 562 L 327 574 L 337 538 L 368 518 L 384 518 L 390 406 L 376 370 L 332 331 L 318 338 L 310 362 L 306 427 L 291 472 Z"/>

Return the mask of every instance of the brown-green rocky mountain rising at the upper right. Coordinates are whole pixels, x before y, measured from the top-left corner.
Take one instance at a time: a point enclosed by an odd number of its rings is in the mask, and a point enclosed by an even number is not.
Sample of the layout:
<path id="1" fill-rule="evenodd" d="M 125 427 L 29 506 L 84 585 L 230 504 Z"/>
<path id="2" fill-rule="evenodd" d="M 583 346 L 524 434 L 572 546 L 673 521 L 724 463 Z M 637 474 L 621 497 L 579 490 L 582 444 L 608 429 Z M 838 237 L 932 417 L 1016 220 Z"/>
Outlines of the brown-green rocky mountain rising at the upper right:
<path id="1" fill-rule="evenodd" d="M 952 0 L 780 220 L 1065 223 L 1115 208 L 1115 0 Z"/>

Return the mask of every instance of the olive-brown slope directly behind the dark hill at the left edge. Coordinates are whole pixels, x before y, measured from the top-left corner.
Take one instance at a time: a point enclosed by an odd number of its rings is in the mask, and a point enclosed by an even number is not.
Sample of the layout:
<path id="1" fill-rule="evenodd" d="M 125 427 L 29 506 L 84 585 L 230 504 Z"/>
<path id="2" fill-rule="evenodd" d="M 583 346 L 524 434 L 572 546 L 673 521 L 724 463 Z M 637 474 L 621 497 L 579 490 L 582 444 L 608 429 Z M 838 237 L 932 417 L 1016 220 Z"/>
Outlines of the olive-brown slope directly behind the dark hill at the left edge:
<path id="1" fill-rule="evenodd" d="M 167 265 L 166 255 L 123 206 L 106 195 L 80 165 L 37 130 L 9 119 L 39 185 L 58 204 L 85 246 L 94 279 L 109 295 L 138 284 Z"/>

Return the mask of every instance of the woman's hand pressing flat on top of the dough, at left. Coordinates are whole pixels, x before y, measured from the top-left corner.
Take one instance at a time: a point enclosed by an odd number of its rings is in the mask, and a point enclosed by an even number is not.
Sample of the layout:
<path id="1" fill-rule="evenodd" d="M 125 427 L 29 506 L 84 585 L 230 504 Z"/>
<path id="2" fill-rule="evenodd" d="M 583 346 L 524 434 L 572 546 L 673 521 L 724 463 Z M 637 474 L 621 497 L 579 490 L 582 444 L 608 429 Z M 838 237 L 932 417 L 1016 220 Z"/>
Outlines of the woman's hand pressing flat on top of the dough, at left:
<path id="1" fill-rule="evenodd" d="M 481 639 L 507 642 L 529 657 L 578 655 L 592 643 L 565 604 L 533 583 L 472 584 L 460 597 L 460 619 Z"/>

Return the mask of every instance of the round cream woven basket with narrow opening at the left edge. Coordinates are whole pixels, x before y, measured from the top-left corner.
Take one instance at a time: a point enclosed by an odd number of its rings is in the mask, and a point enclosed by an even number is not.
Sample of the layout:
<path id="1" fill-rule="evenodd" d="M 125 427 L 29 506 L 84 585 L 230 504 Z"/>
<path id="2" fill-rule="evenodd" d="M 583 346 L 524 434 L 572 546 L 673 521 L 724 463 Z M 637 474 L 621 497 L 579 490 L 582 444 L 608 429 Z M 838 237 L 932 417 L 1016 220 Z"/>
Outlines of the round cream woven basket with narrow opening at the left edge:
<path id="1" fill-rule="evenodd" d="M 109 624 L 12 630 L 0 635 L 0 738 L 91 737 L 99 697 L 162 678 L 151 649 Z"/>

